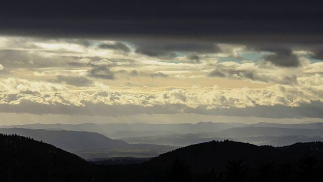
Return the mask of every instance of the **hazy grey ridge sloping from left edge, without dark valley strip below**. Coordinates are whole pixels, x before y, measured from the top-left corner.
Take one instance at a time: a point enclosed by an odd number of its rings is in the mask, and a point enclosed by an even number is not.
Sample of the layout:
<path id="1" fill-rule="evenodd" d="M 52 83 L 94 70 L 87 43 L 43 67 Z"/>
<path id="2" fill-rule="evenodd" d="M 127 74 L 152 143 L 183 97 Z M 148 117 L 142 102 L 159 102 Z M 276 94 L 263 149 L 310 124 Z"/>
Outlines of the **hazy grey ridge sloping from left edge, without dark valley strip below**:
<path id="1" fill-rule="evenodd" d="M 87 131 L 67 131 L 67 130 L 45 130 L 45 129 L 25 129 L 25 128 L 0 128 L 0 133 L 18 134 L 55 145 L 63 150 L 82 154 L 80 151 L 93 150 L 147 150 L 152 151 L 150 155 L 158 155 L 176 149 L 174 146 L 161 146 L 151 144 L 128 144 L 124 141 L 113 140 L 106 136 Z M 86 153 L 86 152 L 85 152 Z M 80 155 L 82 156 L 82 155 Z M 86 156 L 82 156 L 86 157 Z M 91 155 L 93 157 L 93 155 Z M 151 157 L 151 156 L 149 156 Z"/>

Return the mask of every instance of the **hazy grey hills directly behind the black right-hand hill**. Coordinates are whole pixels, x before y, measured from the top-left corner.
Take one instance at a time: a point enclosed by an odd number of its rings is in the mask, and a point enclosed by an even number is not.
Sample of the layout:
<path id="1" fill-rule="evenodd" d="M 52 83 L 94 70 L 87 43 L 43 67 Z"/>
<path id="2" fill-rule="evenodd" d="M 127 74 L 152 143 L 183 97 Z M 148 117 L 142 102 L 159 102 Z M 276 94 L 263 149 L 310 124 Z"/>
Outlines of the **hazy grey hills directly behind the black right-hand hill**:
<path id="1" fill-rule="evenodd" d="M 322 123 L 264 123 L 233 127 L 218 132 L 168 134 L 120 138 L 128 143 L 188 146 L 211 140 L 229 139 L 255 145 L 286 146 L 297 142 L 323 141 Z"/>

